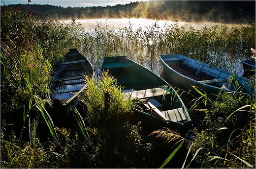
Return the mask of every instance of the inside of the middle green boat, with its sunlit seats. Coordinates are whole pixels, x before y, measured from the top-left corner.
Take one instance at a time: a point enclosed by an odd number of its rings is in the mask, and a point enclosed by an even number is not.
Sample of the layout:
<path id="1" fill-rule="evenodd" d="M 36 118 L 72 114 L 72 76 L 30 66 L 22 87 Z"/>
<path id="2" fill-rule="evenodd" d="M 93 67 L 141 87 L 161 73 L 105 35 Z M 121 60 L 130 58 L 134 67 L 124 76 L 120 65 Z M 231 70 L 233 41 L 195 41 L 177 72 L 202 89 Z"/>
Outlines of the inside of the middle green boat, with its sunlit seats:
<path id="1" fill-rule="evenodd" d="M 154 114 L 165 122 L 186 121 L 182 103 L 179 100 L 177 102 L 178 97 L 173 98 L 171 93 L 167 93 L 164 87 L 161 87 L 168 84 L 160 80 L 159 76 L 152 76 L 128 62 L 107 63 L 102 69 L 108 69 L 108 73 L 117 78 L 117 85 L 122 85 L 122 92 L 127 97 L 140 100 L 136 103 L 136 110 L 148 115 Z M 166 95 L 163 95 L 164 93 Z"/>

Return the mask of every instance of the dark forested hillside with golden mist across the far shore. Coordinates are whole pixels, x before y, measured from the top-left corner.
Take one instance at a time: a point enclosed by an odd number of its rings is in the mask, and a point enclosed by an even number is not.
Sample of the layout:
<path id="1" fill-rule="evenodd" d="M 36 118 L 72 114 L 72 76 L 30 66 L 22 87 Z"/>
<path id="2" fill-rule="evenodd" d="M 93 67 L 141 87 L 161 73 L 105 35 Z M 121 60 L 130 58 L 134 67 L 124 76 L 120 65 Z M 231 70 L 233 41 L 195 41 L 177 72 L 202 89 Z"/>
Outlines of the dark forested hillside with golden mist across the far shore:
<path id="1" fill-rule="evenodd" d="M 9 4 L 7 7 L 33 11 L 39 19 L 110 19 L 146 18 L 154 20 L 173 20 L 186 22 L 218 22 L 247 24 L 256 18 L 256 1 L 240 0 L 153 0 L 136 1 L 115 6 L 62 7 L 40 4 Z"/>

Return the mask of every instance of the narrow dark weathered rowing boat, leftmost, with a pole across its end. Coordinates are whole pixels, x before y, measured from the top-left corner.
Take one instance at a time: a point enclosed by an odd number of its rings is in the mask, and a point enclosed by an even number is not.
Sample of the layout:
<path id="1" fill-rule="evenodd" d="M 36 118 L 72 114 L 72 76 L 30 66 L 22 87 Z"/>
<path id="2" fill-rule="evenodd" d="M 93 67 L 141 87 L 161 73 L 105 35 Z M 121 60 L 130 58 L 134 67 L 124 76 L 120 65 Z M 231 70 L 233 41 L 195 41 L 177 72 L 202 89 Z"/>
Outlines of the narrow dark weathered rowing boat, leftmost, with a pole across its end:
<path id="1" fill-rule="evenodd" d="M 50 100 L 58 112 L 69 115 L 80 102 L 86 88 L 85 75 L 92 77 L 91 63 L 76 48 L 69 49 L 54 66 L 50 89 Z"/>

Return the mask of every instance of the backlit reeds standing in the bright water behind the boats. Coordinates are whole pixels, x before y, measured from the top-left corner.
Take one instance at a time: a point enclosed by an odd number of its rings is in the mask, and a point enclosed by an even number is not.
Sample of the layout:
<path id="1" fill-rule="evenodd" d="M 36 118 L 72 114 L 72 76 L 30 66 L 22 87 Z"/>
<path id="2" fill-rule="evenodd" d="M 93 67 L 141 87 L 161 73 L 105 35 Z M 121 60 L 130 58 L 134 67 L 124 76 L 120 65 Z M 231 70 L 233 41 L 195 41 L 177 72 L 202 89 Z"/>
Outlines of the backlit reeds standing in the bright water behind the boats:
<path id="1" fill-rule="evenodd" d="M 255 23 L 248 26 L 225 24 L 204 25 L 200 30 L 192 26 L 167 24 L 159 27 L 156 23 L 146 28 L 119 30 L 98 23 L 94 30 L 84 34 L 83 52 L 99 69 L 103 57 L 127 55 L 128 58 L 160 74 L 161 65 L 158 54 L 179 53 L 212 66 L 239 73 L 240 61 L 252 55 L 255 47 Z"/>

